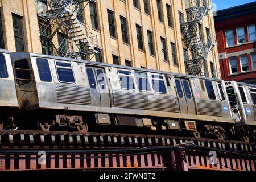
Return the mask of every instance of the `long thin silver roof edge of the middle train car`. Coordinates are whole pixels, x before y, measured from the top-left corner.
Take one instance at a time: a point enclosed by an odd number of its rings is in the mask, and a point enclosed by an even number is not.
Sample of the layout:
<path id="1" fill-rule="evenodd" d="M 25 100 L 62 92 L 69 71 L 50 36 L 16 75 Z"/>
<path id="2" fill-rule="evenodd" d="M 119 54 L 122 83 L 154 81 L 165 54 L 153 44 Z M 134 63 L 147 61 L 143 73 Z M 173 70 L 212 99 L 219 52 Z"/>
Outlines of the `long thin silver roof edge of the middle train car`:
<path id="1" fill-rule="evenodd" d="M 25 53 L 25 52 L 15 52 L 15 53 Z M 122 68 L 122 69 L 130 68 L 130 69 L 133 69 L 136 71 L 147 71 L 147 72 L 153 72 L 153 73 L 162 73 L 165 75 L 173 75 L 173 76 L 178 76 L 178 77 L 189 77 L 189 78 L 199 78 L 199 79 L 204 79 L 204 80 L 221 81 L 221 79 L 218 79 L 218 78 L 209 78 L 209 77 L 185 75 L 185 74 L 173 73 L 173 72 L 156 71 L 154 69 L 147 69 L 147 68 L 127 67 L 127 66 L 116 65 L 116 64 L 106 64 L 106 63 L 94 62 L 94 61 L 89 61 L 89 60 L 73 59 L 73 58 L 59 57 L 59 56 L 52 56 L 52 55 L 43 55 L 40 53 L 25 53 L 25 54 L 29 54 L 30 56 L 33 56 L 33 57 L 43 57 L 43 58 L 56 59 L 56 60 L 66 60 L 66 61 L 73 61 L 73 62 L 77 62 L 77 63 L 101 65 L 101 66 L 105 66 L 105 67 L 115 67 L 115 68 Z"/>

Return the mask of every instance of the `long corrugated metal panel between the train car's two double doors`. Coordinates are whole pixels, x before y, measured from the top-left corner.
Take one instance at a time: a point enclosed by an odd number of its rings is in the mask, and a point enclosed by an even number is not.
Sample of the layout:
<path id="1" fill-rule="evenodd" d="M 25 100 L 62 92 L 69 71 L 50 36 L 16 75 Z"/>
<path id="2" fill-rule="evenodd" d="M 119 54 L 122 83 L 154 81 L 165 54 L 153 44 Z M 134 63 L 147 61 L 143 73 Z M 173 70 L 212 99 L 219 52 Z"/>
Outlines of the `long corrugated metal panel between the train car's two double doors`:
<path id="1" fill-rule="evenodd" d="M 159 94 L 158 97 L 155 97 L 154 94 L 123 93 L 115 90 L 114 102 L 115 107 L 179 112 L 177 97 L 168 96 L 167 94 Z"/>

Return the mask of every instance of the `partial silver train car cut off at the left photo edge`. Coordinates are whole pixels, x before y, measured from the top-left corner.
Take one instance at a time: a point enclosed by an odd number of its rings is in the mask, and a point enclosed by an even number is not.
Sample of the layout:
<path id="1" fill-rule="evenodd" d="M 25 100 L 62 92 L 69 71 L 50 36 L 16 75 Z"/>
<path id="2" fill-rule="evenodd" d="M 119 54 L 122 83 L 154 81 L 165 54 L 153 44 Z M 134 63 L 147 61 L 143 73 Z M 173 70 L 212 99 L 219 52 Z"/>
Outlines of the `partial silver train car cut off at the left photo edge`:
<path id="1" fill-rule="evenodd" d="M 12 68 L 9 51 L 0 49 L 0 130 L 3 129 L 4 120 L 6 121 L 5 125 L 12 125 L 13 118 L 9 117 L 7 113 L 18 108 Z"/>

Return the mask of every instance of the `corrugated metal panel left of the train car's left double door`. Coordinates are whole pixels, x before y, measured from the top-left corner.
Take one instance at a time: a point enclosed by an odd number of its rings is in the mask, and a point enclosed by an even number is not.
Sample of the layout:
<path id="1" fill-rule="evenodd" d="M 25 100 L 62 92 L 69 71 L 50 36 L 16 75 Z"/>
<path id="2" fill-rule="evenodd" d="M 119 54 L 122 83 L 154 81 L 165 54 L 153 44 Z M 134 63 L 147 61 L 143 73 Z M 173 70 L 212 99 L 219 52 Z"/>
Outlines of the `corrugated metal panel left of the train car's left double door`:
<path id="1" fill-rule="evenodd" d="M 67 104 L 91 105 L 90 88 L 76 85 L 55 85 L 57 102 Z"/>

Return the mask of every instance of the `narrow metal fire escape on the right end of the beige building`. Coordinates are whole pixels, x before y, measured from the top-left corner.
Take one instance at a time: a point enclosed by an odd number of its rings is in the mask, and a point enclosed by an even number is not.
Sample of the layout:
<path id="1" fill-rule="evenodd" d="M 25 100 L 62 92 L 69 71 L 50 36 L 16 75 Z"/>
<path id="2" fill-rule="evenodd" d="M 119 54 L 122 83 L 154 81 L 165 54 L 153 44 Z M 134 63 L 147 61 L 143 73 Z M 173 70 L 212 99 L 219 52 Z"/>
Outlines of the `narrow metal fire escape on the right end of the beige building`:
<path id="1" fill-rule="evenodd" d="M 215 34 L 208 34 L 203 40 L 200 34 L 199 24 L 203 22 L 203 18 L 211 9 L 207 0 L 203 0 L 199 6 L 199 0 L 193 1 L 192 7 L 186 9 L 187 20 L 181 22 L 181 34 L 185 46 L 191 52 L 191 56 L 185 60 L 187 73 L 190 75 L 204 76 L 204 61 L 214 46 L 217 45 Z"/>

